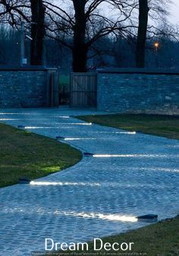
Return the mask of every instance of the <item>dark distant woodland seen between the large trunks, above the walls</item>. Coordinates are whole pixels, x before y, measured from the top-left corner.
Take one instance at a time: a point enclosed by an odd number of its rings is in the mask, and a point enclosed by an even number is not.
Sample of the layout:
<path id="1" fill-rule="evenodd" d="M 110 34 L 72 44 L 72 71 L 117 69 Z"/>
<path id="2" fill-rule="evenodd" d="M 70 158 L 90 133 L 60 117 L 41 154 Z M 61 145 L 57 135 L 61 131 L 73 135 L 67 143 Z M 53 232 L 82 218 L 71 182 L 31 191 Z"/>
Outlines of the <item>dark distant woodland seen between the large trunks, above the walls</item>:
<path id="1" fill-rule="evenodd" d="M 20 65 L 20 32 L 11 27 L 0 27 L 0 65 Z M 72 40 L 72 39 L 71 39 Z M 98 41 L 89 51 L 87 70 L 96 68 L 133 68 L 136 66 L 136 39 L 106 36 Z M 155 42 L 159 48 L 155 49 Z M 68 47 L 54 39 L 46 38 L 43 62 L 48 67 L 58 67 L 61 72 L 73 70 L 72 53 Z M 146 41 L 146 67 L 179 68 L 179 43 L 165 36 L 158 36 Z M 25 55 L 30 65 L 30 42 L 25 41 Z"/>

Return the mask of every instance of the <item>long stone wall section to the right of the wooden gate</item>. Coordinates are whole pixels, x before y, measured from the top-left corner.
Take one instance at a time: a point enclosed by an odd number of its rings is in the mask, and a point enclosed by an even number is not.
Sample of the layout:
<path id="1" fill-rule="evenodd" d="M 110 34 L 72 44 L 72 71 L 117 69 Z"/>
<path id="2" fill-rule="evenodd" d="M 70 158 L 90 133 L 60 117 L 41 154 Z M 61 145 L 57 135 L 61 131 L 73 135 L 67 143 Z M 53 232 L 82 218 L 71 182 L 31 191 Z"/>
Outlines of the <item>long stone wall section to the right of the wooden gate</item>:
<path id="1" fill-rule="evenodd" d="M 179 72 L 99 70 L 98 110 L 179 115 Z"/>

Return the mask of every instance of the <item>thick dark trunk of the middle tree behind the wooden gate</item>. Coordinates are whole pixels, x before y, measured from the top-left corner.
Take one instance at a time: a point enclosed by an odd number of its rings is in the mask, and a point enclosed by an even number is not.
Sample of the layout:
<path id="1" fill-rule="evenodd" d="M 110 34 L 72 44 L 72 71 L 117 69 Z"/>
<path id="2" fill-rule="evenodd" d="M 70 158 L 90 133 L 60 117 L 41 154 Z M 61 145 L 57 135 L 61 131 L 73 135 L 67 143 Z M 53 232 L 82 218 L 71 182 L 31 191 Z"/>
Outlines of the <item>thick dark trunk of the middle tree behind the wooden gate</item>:
<path id="1" fill-rule="evenodd" d="M 73 71 L 86 72 L 87 68 L 87 46 L 85 42 L 86 0 L 74 0 L 75 25 L 74 25 L 74 43 L 73 43 Z"/>

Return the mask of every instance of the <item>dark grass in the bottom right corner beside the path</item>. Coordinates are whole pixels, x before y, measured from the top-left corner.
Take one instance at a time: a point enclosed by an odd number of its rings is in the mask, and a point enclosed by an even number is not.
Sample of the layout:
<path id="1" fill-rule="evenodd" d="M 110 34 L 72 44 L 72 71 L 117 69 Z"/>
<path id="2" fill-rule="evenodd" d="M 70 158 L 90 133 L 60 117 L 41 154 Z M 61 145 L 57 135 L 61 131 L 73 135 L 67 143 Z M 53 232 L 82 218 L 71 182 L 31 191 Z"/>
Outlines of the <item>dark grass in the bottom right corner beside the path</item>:
<path id="1" fill-rule="evenodd" d="M 160 223 L 152 224 L 141 229 L 130 231 L 121 235 L 109 236 L 102 239 L 103 244 L 106 242 L 115 243 L 119 245 L 123 242 L 133 242 L 132 250 L 126 254 L 124 251 L 105 251 L 104 249 L 97 254 L 94 251 L 93 242 L 89 242 L 88 251 L 75 251 L 66 253 L 63 252 L 59 255 L 146 255 L 146 256 L 178 256 L 179 255 L 179 219 L 165 220 Z M 99 244 L 97 244 L 99 247 Z M 89 254 L 90 253 L 90 254 Z M 131 254 L 133 253 L 133 254 Z M 57 254 L 52 254 L 57 255 Z"/>

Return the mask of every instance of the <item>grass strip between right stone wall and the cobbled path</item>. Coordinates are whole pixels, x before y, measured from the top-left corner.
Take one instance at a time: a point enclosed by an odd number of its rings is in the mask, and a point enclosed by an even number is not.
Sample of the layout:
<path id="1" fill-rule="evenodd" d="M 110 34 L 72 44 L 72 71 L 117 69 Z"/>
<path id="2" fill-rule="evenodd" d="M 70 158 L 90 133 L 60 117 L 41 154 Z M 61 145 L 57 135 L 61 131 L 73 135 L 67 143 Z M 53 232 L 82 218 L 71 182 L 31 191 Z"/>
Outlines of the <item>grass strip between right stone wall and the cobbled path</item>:
<path id="1" fill-rule="evenodd" d="M 86 122 L 95 122 L 99 125 L 179 139 L 179 116 L 118 114 L 86 115 L 77 116 L 77 118 Z"/>

